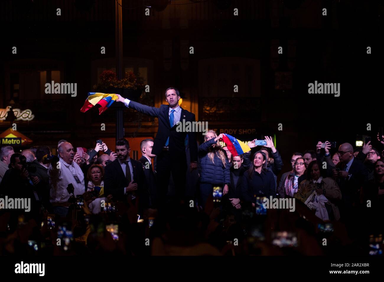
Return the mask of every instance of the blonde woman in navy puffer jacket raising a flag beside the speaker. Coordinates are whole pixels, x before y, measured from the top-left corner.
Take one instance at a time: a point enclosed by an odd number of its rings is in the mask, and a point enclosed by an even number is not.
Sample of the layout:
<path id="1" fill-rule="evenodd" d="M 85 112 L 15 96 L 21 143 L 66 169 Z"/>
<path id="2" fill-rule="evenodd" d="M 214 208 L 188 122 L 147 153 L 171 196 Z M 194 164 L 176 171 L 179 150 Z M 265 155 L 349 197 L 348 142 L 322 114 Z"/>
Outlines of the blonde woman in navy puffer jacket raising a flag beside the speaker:
<path id="1" fill-rule="evenodd" d="M 230 163 L 227 153 L 218 142 L 224 134 L 217 136 L 214 130 L 208 130 L 205 142 L 199 147 L 198 169 L 200 182 L 199 205 L 205 207 L 209 196 L 213 195 L 214 187 L 222 187 L 223 194 L 228 193 L 230 185 Z"/>

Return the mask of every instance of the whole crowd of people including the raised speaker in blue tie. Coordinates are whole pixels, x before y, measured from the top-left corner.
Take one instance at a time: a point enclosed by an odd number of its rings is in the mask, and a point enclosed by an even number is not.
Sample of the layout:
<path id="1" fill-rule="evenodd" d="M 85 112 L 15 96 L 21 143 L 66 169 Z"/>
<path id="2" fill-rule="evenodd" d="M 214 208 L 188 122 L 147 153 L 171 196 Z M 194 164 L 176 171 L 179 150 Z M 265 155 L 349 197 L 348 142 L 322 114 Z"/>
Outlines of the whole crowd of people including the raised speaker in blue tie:
<path id="1" fill-rule="evenodd" d="M 378 242 L 384 156 L 370 142 L 358 151 L 328 141 L 292 150 L 291 170 L 282 173 L 271 137 L 238 155 L 214 130 L 200 144 L 195 133 L 174 130 L 180 117 L 194 120 L 177 97 L 167 89 L 169 106 L 154 108 L 119 96 L 159 117 L 139 160 L 125 138 L 114 150 L 100 142 L 79 151 L 60 140 L 57 155 L 48 146 L 1 147 L 0 198 L 28 198 L 31 206 L 0 209 L 0 254 L 368 254 L 369 240 Z M 265 210 L 265 197 L 292 199 L 296 211 Z"/>

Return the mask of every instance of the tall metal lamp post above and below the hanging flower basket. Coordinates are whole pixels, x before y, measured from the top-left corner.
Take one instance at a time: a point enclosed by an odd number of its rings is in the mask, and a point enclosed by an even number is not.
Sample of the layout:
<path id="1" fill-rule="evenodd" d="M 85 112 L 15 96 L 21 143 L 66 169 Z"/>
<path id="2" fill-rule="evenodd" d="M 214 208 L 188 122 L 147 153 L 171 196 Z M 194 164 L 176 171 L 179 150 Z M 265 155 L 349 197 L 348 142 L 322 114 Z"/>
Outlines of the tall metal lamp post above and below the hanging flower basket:
<path id="1" fill-rule="evenodd" d="M 115 14 L 116 14 L 116 76 L 122 79 L 122 0 L 115 1 Z M 116 140 L 124 137 L 124 120 L 123 120 L 123 107 L 116 108 Z"/>

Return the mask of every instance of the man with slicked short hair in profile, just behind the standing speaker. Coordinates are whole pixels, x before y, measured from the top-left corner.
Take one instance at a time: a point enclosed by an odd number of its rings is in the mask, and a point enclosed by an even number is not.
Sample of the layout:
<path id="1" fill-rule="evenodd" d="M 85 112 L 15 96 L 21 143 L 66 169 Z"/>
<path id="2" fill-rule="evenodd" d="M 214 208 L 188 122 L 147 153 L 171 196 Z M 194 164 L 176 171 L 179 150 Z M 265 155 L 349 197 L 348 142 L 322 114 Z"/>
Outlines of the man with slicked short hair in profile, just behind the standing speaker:
<path id="1" fill-rule="evenodd" d="M 140 150 L 141 150 L 142 156 L 139 159 L 139 162 L 142 163 L 143 170 L 144 170 L 146 186 L 148 189 L 149 206 L 155 207 L 157 189 L 156 189 L 155 172 L 153 171 L 153 168 L 152 168 L 152 159 L 155 157 L 155 155 L 152 154 L 152 148 L 153 148 L 152 139 L 144 139 L 140 142 Z"/>

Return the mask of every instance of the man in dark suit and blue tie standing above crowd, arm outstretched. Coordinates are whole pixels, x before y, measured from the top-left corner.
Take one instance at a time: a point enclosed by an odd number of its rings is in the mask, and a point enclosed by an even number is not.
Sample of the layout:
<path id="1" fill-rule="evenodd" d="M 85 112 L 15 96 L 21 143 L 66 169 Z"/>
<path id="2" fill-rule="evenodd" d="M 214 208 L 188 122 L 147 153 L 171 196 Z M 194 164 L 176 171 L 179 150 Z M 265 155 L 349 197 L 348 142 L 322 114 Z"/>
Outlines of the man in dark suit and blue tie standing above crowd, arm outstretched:
<path id="1" fill-rule="evenodd" d="M 187 171 L 187 159 L 185 155 L 184 140 L 188 134 L 191 144 L 196 143 L 195 132 L 177 131 L 177 122 L 195 122 L 195 115 L 179 106 L 179 90 L 170 87 L 166 90 L 166 101 L 169 105 L 161 105 L 160 108 L 149 107 L 118 95 L 119 102 L 127 107 L 159 119 L 159 128 L 154 140 L 152 153 L 156 158 L 157 183 L 159 187 L 159 204 L 166 203 L 169 178 L 172 178 L 176 187 L 176 197 L 185 197 L 185 175 Z M 197 150 L 195 146 L 190 148 L 190 169 L 197 168 Z"/>

